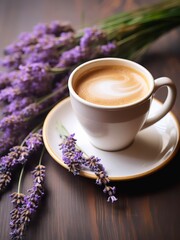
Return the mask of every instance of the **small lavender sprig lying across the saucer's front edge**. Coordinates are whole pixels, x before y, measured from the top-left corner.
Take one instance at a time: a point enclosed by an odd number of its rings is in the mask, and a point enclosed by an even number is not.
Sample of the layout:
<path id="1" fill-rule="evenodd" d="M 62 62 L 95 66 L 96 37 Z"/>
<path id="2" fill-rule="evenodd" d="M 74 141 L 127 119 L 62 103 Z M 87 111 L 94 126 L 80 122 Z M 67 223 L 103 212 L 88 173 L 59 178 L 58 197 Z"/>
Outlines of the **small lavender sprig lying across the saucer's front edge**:
<path id="1" fill-rule="evenodd" d="M 112 203 L 117 201 L 117 198 L 114 196 L 116 188 L 109 185 L 110 180 L 103 165 L 99 163 L 100 159 L 95 156 L 88 157 L 83 153 L 77 146 L 77 140 L 74 138 L 75 134 L 63 135 L 61 133 L 60 136 L 63 139 L 63 142 L 60 144 L 62 160 L 68 166 L 69 171 L 74 175 L 78 175 L 84 166 L 88 167 L 97 176 L 96 184 L 104 186 L 103 192 L 108 195 L 107 201 Z"/>

